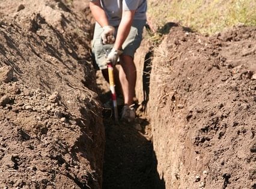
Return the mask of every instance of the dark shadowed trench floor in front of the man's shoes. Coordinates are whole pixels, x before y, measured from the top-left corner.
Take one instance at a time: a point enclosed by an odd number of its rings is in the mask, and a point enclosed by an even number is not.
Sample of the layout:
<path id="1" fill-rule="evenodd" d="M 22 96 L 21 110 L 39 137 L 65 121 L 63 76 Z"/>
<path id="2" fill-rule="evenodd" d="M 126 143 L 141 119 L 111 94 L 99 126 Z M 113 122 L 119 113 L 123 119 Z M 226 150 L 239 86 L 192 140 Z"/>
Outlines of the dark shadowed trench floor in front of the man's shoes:
<path id="1" fill-rule="evenodd" d="M 147 120 L 142 120 L 147 127 Z M 152 188 L 153 147 L 134 125 L 105 121 L 103 188 Z"/>

